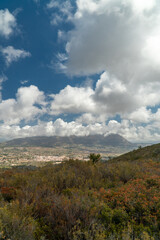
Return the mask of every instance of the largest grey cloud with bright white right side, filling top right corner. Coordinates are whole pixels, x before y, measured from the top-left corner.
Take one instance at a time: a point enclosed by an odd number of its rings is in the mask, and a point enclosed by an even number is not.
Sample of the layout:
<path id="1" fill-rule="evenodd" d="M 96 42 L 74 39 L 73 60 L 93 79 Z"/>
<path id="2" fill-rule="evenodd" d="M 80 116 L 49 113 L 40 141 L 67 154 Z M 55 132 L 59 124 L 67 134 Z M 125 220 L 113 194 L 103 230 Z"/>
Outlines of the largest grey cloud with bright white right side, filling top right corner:
<path id="1" fill-rule="evenodd" d="M 154 0 L 77 0 L 75 28 L 66 46 L 68 71 L 88 75 L 108 70 L 125 80 L 138 69 L 139 77 L 148 66 L 155 67 L 150 55 L 158 57 L 159 15 Z"/>

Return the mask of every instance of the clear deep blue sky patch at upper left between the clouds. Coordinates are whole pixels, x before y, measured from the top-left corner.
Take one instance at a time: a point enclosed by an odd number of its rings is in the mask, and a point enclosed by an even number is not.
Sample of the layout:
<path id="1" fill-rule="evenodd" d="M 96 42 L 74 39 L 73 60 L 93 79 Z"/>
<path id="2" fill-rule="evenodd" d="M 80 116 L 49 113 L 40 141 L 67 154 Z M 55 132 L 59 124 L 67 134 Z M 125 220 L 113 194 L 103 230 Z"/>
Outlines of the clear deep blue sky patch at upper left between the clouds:
<path id="1" fill-rule="evenodd" d="M 1 38 L 1 45 L 25 49 L 32 55 L 23 61 L 16 61 L 7 69 L 1 56 L 1 71 L 12 79 L 4 83 L 4 99 L 14 97 L 23 81 L 28 81 L 27 86 L 36 84 L 46 93 L 56 93 L 70 83 L 67 76 L 51 68 L 51 61 L 56 63 L 56 56 L 63 50 L 64 44 L 58 42 L 59 27 L 50 24 L 53 11 L 47 9 L 45 3 L 36 4 L 33 0 L 2 0 L 0 3 L 1 9 L 8 9 L 11 13 L 17 11 L 17 32 L 8 39 Z M 63 29 L 70 28 L 70 24 L 61 25 Z"/>

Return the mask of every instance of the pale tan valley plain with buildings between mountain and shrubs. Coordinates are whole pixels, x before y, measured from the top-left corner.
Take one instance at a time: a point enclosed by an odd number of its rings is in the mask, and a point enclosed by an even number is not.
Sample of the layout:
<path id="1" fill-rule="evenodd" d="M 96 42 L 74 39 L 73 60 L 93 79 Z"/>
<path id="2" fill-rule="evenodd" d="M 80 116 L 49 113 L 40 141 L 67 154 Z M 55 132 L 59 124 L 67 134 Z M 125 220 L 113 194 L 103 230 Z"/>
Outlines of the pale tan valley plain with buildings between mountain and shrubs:
<path id="1" fill-rule="evenodd" d="M 89 160 L 90 153 L 100 153 L 102 160 L 119 156 L 128 152 L 128 148 L 121 147 L 84 147 L 73 145 L 72 147 L 4 147 L 0 148 L 0 168 L 14 166 L 44 166 L 48 162 L 61 163 L 69 159 Z"/>

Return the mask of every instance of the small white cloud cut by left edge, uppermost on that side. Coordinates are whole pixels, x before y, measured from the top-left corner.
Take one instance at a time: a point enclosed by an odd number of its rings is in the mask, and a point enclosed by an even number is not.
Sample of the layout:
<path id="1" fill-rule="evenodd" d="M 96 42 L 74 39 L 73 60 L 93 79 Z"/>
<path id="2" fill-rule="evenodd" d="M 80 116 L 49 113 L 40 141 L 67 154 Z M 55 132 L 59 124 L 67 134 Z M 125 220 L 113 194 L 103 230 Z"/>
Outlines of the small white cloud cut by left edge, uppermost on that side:
<path id="1" fill-rule="evenodd" d="M 16 19 L 8 9 L 0 10 L 0 35 L 8 38 L 16 28 Z"/>

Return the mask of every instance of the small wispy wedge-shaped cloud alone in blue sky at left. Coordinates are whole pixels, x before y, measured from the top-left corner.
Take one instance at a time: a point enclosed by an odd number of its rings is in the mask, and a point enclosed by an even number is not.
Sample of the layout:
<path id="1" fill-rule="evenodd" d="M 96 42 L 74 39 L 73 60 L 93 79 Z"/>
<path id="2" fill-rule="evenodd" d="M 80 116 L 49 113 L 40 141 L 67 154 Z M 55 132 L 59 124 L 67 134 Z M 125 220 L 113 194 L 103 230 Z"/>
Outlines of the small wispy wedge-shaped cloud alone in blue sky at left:
<path id="1" fill-rule="evenodd" d="M 12 62 L 16 62 L 21 58 L 30 57 L 30 52 L 27 52 L 23 49 L 15 49 L 12 46 L 8 46 L 6 48 L 1 49 L 2 55 L 5 58 L 7 66 L 9 66 Z"/>

